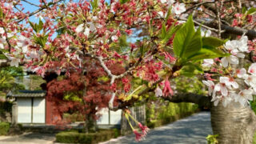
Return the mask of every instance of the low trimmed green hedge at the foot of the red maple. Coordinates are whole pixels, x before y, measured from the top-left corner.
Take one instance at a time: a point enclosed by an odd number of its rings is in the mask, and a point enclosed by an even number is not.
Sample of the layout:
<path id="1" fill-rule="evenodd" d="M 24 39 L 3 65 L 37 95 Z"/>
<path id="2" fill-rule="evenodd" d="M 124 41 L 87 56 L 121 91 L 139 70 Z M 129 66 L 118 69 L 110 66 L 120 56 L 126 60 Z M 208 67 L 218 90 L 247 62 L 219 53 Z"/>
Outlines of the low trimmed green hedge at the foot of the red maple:
<path id="1" fill-rule="evenodd" d="M 78 131 L 65 131 L 56 134 L 56 142 L 93 144 L 104 142 L 119 136 L 118 130 L 101 130 L 97 133 L 79 133 Z"/>

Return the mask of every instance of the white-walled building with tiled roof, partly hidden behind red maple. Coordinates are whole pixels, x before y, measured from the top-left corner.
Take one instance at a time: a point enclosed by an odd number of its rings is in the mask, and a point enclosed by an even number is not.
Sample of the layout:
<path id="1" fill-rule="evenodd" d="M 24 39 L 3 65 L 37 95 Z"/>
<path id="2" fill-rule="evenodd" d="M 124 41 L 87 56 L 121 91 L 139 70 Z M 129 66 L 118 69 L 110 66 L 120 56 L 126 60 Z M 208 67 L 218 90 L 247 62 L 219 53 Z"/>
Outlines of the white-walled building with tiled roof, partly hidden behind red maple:
<path id="1" fill-rule="evenodd" d="M 19 90 L 9 92 L 7 98 L 14 99 L 12 123 L 54 125 L 55 108 L 46 97 L 45 90 Z M 102 127 L 120 126 L 122 110 L 103 109 L 98 112 L 102 117 L 97 124 Z"/>

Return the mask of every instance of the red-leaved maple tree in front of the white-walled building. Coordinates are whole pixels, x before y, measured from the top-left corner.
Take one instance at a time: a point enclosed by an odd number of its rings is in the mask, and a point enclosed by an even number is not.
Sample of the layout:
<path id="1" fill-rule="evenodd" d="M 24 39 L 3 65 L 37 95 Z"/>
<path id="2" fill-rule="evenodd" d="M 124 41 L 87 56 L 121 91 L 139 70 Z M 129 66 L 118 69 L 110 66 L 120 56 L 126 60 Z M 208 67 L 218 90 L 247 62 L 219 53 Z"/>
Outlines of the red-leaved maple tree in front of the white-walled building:
<path id="1" fill-rule="evenodd" d="M 47 98 L 54 105 L 54 123 L 65 123 L 62 115 L 65 112 L 81 114 L 85 122 L 85 130 L 94 129 L 98 119 L 96 113 L 106 108 L 110 101 L 111 90 L 108 84 L 109 78 L 97 61 L 88 59 L 85 63 L 86 71 L 71 72 L 66 78 L 47 83 Z M 116 68 L 118 67 L 118 69 Z M 125 71 L 121 65 L 109 66 L 114 74 L 122 74 Z"/>

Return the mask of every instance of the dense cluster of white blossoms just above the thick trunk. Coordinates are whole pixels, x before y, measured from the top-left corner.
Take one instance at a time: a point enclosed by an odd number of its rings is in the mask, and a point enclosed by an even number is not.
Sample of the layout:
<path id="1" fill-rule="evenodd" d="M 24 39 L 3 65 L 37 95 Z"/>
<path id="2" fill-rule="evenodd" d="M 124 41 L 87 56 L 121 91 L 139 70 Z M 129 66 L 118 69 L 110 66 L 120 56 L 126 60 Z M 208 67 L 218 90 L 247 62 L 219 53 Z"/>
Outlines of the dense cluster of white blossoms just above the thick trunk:
<path id="1" fill-rule="evenodd" d="M 214 106 L 219 102 L 227 106 L 232 101 L 248 106 L 249 101 L 253 100 L 253 94 L 256 94 L 256 63 L 252 63 L 248 70 L 243 67 L 237 68 L 239 58 L 245 58 L 246 53 L 249 53 L 247 42 L 246 36 L 239 40 L 227 41 L 224 48 L 230 56 L 221 60 L 216 58 L 215 62 L 219 62 L 219 66 L 215 64 L 214 59 L 204 60 L 202 66 L 211 67 L 213 72 L 220 75 L 218 79 L 213 79 L 208 74 L 208 80 L 202 81 L 208 86 L 208 93 L 212 96 Z"/>

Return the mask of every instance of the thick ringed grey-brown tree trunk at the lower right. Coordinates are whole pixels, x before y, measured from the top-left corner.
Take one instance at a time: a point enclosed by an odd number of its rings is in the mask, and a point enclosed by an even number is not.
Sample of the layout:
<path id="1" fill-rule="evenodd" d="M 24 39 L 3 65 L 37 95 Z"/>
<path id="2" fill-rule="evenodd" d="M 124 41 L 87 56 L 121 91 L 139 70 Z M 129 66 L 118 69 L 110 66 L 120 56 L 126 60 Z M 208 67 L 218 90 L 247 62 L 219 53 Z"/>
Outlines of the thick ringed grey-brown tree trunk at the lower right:
<path id="1" fill-rule="evenodd" d="M 231 102 L 223 107 L 211 106 L 211 126 L 218 134 L 219 144 L 251 144 L 256 128 L 256 116 L 250 107 Z"/>

